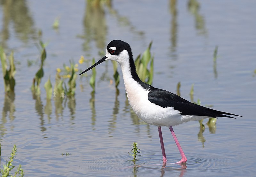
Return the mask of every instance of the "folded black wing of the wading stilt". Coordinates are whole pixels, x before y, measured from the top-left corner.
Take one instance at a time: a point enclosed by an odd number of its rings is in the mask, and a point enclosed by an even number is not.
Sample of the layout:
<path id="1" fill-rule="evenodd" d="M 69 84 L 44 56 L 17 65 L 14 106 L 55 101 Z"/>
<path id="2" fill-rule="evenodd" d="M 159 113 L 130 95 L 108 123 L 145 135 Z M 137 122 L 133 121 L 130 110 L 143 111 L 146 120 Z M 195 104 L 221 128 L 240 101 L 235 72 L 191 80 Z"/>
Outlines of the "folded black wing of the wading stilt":
<path id="1" fill-rule="evenodd" d="M 194 115 L 194 116 L 208 116 L 208 117 L 229 117 L 227 115 L 239 116 L 236 114 L 230 114 L 227 112 L 216 111 L 198 104 L 194 104 L 181 98 L 180 96 L 162 90 L 159 88 L 153 88 L 148 93 L 148 100 L 151 103 L 157 104 L 163 108 L 165 107 L 174 107 L 175 110 L 179 110 L 181 115 Z M 224 115 L 227 114 L 227 115 Z M 242 117 L 242 116 L 240 116 Z M 234 118 L 236 119 L 236 118 Z"/>

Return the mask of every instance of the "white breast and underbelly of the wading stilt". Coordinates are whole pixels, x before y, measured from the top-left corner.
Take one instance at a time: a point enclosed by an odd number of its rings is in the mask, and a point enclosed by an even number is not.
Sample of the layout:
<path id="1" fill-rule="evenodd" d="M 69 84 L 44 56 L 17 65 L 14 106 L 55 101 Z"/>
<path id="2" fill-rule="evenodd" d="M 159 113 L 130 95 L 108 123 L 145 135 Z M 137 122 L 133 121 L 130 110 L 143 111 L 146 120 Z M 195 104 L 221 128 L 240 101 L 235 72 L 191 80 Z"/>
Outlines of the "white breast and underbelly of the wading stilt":
<path id="1" fill-rule="evenodd" d="M 200 120 L 207 117 L 180 115 L 180 111 L 174 110 L 173 107 L 163 108 L 148 101 L 149 91 L 132 79 L 131 73 L 127 67 L 122 67 L 124 86 L 127 97 L 133 111 L 144 122 L 155 126 L 175 126 L 183 122 Z"/>

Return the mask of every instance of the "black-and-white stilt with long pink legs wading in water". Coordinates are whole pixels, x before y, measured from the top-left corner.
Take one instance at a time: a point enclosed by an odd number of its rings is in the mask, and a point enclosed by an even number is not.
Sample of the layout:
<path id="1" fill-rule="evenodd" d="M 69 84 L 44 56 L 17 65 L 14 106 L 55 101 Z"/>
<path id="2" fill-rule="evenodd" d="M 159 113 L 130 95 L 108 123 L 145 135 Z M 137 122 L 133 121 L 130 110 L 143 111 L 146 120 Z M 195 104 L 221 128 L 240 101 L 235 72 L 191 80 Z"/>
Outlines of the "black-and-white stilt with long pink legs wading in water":
<path id="1" fill-rule="evenodd" d="M 106 60 L 115 60 L 121 66 L 125 90 L 133 111 L 144 122 L 158 126 L 163 161 L 165 163 L 167 162 L 167 159 L 164 150 L 161 126 L 169 127 L 174 141 L 180 151 L 181 160 L 176 163 L 185 163 L 187 158 L 181 149 L 180 143 L 176 138 L 172 126 L 210 117 L 234 118 L 228 115 L 239 116 L 190 103 L 178 95 L 166 90 L 154 88 L 153 86 L 142 82 L 136 73 L 130 45 L 120 40 L 111 41 L 107 46 L 105 57 L 101 58 L 98 62 L 80 74 L 89 71 Z"/>

